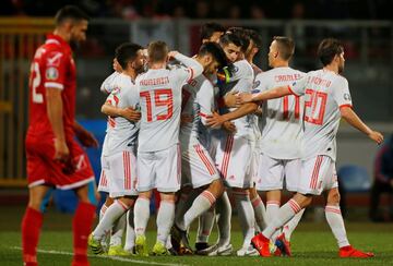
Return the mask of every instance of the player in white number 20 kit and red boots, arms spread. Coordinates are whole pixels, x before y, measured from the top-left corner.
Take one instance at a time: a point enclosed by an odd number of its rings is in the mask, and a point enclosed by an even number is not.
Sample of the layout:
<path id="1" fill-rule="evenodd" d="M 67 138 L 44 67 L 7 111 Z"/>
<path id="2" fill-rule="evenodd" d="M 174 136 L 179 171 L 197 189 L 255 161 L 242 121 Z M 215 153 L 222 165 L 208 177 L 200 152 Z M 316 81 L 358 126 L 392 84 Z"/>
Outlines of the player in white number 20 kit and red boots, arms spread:
<path id="1" fill-rule="evenodd" d="M 323 39 L 318 48 L 323 69 L 311 71 L 289 86 L 281 86 L 255 95 L 240 95 L 238 101 L 266 100 L 286 95 L 305 95 L 303 142 L 301 144 L 300 182 L 296 195 L 283 205 L 276 218 L 262 233 L 252 239 L 261 256 L 271 256 L 270 238 L 297 213 L 307 207 L 314 195 L 327 192 L 325 216 L 337 241 L 340 257 L 367 258 L 372 253 L 354 249 L 347 239 L 340 209 L 340 193 L 335 170 L 336 141 L 341 118 L 380 144 L 381 133 L 368 128 L 353 110 L 348 82 L 344 70 L 343 45 L 332 38 Z"/>

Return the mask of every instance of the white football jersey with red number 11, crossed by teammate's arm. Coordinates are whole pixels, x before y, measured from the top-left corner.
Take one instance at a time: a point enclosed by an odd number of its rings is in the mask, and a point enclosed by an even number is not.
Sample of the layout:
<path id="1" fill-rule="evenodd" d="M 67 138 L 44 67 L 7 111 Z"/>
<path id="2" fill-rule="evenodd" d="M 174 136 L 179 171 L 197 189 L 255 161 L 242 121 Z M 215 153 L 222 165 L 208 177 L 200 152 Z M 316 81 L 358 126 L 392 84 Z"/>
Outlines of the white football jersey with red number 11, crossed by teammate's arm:
<path id="1" fill-rule="evenodd" d="M 275 68 L 257 75 L 253 93 L 288 86 L 303 76 L 303 72 L 291 68 Z M 288 95 L 264 101 L 261 118 L 262 153 L 275 159 L 300 158 L 301 116 L 302 97 Z"/>

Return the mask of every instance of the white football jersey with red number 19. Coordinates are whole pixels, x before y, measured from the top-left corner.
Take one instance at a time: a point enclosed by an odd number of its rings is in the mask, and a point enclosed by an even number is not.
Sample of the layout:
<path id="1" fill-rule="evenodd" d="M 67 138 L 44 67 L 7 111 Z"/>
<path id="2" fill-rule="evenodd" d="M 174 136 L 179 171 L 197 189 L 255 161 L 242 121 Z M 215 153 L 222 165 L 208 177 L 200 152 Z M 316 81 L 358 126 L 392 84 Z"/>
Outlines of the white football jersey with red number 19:
<path id="1" fill-rule="evenodd" d="M 179 143 L 181 88 L 193 77 L 193 69 L 179 65 L 150 69 L 138 76 L 142 111 L 139 152 L 163 150 Z"/>

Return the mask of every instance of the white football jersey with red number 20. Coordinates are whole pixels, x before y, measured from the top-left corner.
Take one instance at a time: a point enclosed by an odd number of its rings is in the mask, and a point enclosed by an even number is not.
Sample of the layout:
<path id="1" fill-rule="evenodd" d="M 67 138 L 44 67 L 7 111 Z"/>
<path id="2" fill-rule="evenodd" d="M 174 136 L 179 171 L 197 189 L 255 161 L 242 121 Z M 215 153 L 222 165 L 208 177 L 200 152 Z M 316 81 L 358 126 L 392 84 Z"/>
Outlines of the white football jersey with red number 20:
<path id="1" fill-rule="evenodd" d="M 289 88 L 295 95 L 305 95 L 302 158 L 326 155 L 335 161 L 340 108 L 352 107 L 348 81 L 322 69 L 308 72 Z"/>

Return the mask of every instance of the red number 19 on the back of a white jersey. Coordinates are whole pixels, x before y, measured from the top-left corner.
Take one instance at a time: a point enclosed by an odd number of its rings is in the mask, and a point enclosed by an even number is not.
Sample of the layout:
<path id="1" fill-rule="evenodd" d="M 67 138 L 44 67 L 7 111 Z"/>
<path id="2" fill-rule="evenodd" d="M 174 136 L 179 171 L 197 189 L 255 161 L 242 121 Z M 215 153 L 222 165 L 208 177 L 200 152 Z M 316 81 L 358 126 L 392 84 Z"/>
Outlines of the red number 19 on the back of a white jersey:
<path id="1" fill-rule="evenodd" d="M 172 92 L 170 88 L 160 88 L 160 89 L 155 89 L 155 90 L 151 90 L 151 92 L 142 92 L 140 93 L 141 97 L 146 98 L 146 117 L 147 117 L 147 122 L 152 122 L 153 121 L 153 101 L 152 101 L 152 94 L 154 97 L 154 106 L 155 107 L 166 107 L 166 113 L 164 114 L 157 114 L 156 119 L 157 120 L 167 120 L 170 119 L 174 114 L 174 96 L 172 96 Z"/>

